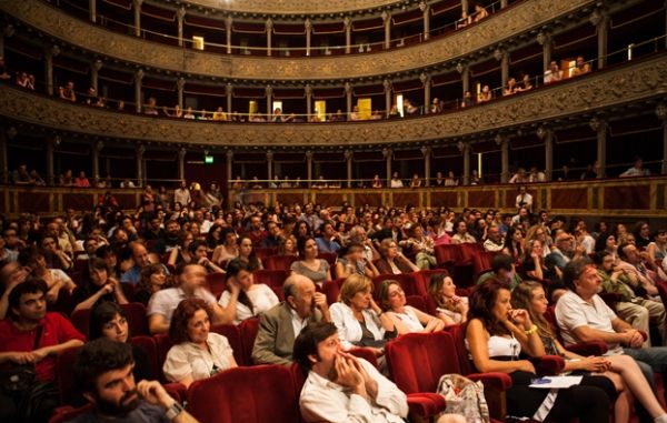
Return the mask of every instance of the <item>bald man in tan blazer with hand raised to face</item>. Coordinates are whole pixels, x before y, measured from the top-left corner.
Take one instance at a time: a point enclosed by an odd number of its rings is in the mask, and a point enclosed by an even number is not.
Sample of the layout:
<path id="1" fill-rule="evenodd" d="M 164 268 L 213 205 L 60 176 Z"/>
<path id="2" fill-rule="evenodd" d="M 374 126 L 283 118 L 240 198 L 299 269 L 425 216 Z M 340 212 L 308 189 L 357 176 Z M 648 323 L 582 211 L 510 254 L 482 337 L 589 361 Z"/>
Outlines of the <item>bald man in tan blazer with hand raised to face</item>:
<path id="1" fill-rule="evenodd" d="M 292 274 L 282 285 L 285 301 L 266 311 L 259 319 L 259 331 L 252 349 L 256 364 L 292 363 L 295 340 L 311 322 L 330 322 L 327 298 L 315 291 L 315 283 Z"/>

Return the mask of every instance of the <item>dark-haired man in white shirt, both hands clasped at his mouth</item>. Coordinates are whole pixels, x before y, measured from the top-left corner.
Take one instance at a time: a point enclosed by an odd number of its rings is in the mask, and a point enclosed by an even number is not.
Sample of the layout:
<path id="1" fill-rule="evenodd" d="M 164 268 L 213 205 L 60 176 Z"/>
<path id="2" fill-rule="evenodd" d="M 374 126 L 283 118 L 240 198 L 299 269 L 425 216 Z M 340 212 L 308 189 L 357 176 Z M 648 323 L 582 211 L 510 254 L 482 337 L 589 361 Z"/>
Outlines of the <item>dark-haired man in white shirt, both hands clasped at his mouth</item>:
<path id="1" fill-rule="evenodd" d="M 334 324 L 303 329 L 293 356 L 308 375 L 299 400 L 306 422 L 402 423 L 407 417 L 406 394 L 369 362 L 344 352 Z"/>

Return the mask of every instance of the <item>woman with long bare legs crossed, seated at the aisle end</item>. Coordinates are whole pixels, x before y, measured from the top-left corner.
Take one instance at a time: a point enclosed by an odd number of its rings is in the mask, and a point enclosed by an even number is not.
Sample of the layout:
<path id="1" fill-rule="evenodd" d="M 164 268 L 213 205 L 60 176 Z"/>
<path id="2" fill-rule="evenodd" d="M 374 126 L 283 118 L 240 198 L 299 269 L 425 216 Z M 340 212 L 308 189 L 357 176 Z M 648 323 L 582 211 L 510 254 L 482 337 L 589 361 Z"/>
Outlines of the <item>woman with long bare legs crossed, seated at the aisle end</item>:
<path id="1" fill-rule="evenodd" d="M 537 333 L 542 340 L 546 353 L 549 355 L 560 355 L 565 359 L 564 371 L 598 373 L 605 367 L 600 362 L 609 362 L 609 370 L 603 374 L 614 382 L 617 391 L 620 391 L 618 399 L 614 404 L 616 423 L 628 422 L 630 420 L 634 397 L 644 405 L 653 419 L 657 419 L 661 415 L 667 417 L 633 357 L 623 354 L 605 357 L 584 357 L 567 351 L 558 342 L 551 326 L 544 316 L 548 304 L 549 302 L 545 295 L 545 290 L 541 284 L 537 282 L 522 282 L 517 285 L 511 293 L 511 305 L 528 311 L 531 321 L 537 326 Z M 590 377 L 591 376 L 584 376 L 581 383 L 588 384 Z"/>

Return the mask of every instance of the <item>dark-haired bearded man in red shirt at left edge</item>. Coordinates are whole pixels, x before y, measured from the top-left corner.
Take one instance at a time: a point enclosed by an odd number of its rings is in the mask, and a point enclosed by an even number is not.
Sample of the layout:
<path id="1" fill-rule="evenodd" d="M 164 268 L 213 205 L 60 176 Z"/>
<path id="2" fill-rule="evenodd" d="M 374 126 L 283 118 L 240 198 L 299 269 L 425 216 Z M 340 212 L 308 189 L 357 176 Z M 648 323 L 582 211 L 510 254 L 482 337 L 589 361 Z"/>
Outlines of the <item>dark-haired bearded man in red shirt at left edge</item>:
<path id="1" fill-rule="evenodd" d="M 27 280 L 14 286 L 9 294 L 10 319 L 0 321 L 0 366 L 6 370 L 22 364 L 33 364 L 37 380 L 56 380 L 56 359 L 62 351 L 81 346 L 86 338 L 69 320 L 59 313 L 47 313 L 47 286 L 41 280 Z M 39 335 L 39 338 L 38 338 Z M 24 419 L 21 394 L 8 396 L 0 393 L 0 421 L 14 422 Z M 39 413 L 48 420 L 51 407 L 42 402 Z M 31 421 L 39 421 L 32 416 Z"/>

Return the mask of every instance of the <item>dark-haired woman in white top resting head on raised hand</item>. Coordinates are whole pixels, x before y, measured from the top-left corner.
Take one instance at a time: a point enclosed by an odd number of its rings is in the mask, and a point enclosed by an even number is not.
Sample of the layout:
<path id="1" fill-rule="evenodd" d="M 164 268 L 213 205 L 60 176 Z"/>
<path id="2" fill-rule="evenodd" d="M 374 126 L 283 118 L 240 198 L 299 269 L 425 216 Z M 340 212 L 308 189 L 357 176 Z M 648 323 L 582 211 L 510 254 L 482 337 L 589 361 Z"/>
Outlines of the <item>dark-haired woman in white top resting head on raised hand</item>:
<path id="1" fill-rule="evenodd" d="M 229 319 L 233 320 L 233 324 L 253 318 L 280 302 L 268 285 L 255 283 L 250 265 L 240 259 L 227 264 L 227 286 L 229 290 L 222 293 L 219 304 Z"/>

